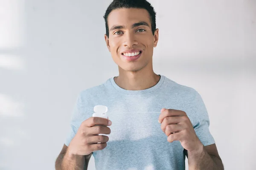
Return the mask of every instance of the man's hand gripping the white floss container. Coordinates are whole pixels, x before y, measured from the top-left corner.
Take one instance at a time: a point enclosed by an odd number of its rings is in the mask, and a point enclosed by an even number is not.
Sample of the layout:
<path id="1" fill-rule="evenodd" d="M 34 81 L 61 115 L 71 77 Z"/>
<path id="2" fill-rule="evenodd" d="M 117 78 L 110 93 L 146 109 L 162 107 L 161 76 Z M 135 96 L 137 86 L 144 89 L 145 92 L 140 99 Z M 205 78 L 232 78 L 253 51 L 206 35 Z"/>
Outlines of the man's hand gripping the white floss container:
<path id="1" fill-rule="evenodd" d="M 83 156 L 89 155 L 95 150 L 104 149 L 107 146 L 108 136 L 99 134 L 110 134 L 111 130 L 107 126 L 111 124 L 112 122 L 105 118 L 90 117 L 86 119 L 81 123 L 76 136 L 70 142 L 69 153 Z"/>

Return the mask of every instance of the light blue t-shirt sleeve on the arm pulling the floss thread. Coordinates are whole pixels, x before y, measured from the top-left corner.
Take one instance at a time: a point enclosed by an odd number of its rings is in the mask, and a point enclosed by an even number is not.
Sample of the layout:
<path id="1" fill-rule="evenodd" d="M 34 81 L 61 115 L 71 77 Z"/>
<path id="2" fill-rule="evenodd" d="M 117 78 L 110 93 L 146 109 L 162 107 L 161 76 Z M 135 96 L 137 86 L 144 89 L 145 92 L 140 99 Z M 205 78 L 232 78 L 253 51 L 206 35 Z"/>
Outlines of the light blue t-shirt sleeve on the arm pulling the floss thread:
<path id="1" fill-rule="evenodd" d="M 209 116 L 207 113 L 207 109 L 204 105 L 203 99 L 201 95 L 196 92 L 195 95 L 195 123 L 194 129 L 195 133 L 200 139 L 201 143 L 204 146 L 214 144 L 215 140 L 212 137 L 212 134 L 209 131 Z"/>

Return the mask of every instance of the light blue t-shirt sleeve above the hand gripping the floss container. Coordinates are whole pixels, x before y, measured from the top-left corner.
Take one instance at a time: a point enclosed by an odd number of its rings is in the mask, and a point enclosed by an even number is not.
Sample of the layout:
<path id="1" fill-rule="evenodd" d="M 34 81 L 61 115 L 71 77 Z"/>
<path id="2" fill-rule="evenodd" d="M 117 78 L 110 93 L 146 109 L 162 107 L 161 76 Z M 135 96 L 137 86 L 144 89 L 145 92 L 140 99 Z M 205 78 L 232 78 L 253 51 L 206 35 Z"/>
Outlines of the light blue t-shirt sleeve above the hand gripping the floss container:
<path id="1" fill-rule="evenodd" d="M 71 115 L 71 120 L 70 120 L 70 128 L 64 142 L 64 144 L 67 146 L 69 146 L 70 142 L 75 137 L 77 130 L 81 125 L 81 122 L 83 122 L 84 120 L 83 118 L 84 104 L 83 103 L 84 102 L 82 101 L 82 95 L 80 93 L 76 99 L 76 103 L 73 108 L 73 113 Z"/>

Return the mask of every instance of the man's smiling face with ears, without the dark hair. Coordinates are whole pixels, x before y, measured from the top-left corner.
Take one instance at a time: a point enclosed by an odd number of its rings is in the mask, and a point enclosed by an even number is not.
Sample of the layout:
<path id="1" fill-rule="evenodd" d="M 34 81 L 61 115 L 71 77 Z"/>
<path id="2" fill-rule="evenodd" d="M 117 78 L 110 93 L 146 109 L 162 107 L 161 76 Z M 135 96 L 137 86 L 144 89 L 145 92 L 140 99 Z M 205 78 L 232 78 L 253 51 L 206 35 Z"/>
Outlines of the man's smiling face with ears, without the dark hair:
<path id="1" fill-rule="evenodd" d="M 108 15 L 109 37 L 106 44 L 114 62 L 125 71 L 139 71 L 152 62 L 158 29 L 151 31 L 148 11 L 120 8 Z"/>

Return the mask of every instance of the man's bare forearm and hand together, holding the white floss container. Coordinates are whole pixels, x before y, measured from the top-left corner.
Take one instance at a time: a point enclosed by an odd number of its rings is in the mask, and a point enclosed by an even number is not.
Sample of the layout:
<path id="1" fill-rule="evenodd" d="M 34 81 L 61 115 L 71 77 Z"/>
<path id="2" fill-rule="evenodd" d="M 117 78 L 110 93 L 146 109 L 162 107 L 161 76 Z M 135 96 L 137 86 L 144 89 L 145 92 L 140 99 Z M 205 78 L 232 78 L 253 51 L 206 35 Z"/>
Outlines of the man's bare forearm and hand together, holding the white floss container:
<path id="1" fill-rule="evenodd" d="M 87 170 L 92 153 L 107 147 L 111 121 L 101 117 L 90 117 L 83 121 L 69 146 L 65 144 L 58 156 L 56 170 Z M 72 135 L 73 136 L 73 135 Z"/>

